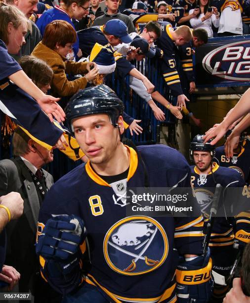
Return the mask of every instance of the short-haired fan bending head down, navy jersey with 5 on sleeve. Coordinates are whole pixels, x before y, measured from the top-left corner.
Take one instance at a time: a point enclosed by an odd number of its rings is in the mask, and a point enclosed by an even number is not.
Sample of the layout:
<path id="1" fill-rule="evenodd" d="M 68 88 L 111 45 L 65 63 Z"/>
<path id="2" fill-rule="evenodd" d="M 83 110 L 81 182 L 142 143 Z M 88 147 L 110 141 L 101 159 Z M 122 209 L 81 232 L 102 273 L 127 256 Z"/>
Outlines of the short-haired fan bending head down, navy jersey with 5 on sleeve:
<path id="1" fill-rule="evenodd" d="M 157 39 L 156 45 L 163 50 L 163 58 L 161 59 L 162 73 L 168 88 L 177 96 L 177 106 L 186 107 L 185 101 L 189 101 L 183 94 L 180 77 L 176 69 L 174 46 L 182 46 L 192 39 L 191 29 L 182 25 L 175 30 L 166 22 L 159 22 L 161 25 L 162 35 Z"/>

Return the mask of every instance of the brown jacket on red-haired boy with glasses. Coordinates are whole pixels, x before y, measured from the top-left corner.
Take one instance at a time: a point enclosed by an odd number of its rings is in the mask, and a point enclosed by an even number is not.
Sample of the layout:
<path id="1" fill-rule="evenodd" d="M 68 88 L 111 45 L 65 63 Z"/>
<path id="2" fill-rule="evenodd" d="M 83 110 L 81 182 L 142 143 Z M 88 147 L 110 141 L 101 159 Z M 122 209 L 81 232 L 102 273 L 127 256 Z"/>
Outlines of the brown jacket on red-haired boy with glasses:
<path id="1" fill-rule="evenodd" d="M 35 47 L 31 55 L 46 61 L 52 68 L 54 75 L 52 78 L 51 88 L 53 92 L 58 94 L 60 97 L 72 96 L 80 89 L 86 87 L 87 80 L 85 77 L 69 81 L 66 78 L 66 74 L 75 76 L 86 73 L 87 63 L 67 60 L 56 51 L 43 45 L 42 42 Z"/>

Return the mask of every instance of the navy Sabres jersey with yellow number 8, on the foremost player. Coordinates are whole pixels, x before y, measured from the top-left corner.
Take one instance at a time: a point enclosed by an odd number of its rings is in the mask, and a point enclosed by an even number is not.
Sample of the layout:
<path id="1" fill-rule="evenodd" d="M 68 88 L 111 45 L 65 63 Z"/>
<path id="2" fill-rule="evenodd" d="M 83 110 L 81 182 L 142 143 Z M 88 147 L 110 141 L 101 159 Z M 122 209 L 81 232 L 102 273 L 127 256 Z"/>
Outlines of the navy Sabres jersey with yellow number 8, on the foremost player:
<path id="1" fill-rule="evenodd" d="M 161 145 L 138 147 L 138 151 L 146 164 L 150 187 L 189 188 L 189 200 L 194 201 L 190 167 L 179 152 Z M 143 164 L 133 149 L 129 152 L 126 186 L 144 187 Z M 98 285 L 112 302 L 122 298 L 129 302 L 174 298 L 178 253 L 201 253 L 202 216 L 127 216 L 125 204 L 118 203 L 118 198 L 89 162 L 78 166 L 47 193 L 39 215 L 38 236 L 51 215 L 80 216 L 87 231 L 92 266 L 86 283 Z M 194 207 L 199 209 L 196 202 Z M 81 283 L 80 265 L 66 280 L 48 276 L 47 260 L 41 260 L 42 274 L 57 290 L 69 292 Z"/>

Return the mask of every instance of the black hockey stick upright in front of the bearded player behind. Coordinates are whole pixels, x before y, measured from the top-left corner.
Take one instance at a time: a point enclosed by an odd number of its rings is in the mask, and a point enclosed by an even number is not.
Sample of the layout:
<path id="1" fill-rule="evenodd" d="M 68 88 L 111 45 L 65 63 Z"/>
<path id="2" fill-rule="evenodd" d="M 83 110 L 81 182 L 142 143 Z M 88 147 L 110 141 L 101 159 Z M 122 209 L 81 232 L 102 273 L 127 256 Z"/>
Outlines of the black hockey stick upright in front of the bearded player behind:
<path id="1" fill-rule="evenodd" d="M 208 250 L 209 240 L 210 240 L 210 236 L 211 236 L 211 232 L 212 232 L 212 226 L 213 226 L 213 222 L 214 222 L 214 217 L 216 216 L 216 213 L 217 213 L 221 190 L 222 190 L 222 186 L 220 184 L 216 184 L 216 188 L 215 188 L 215 192 L 213 195 L 212 204 L 211 204 L 211 208 L 210 208 L 210 213 L 209 213 L 209 217 L 208 217 L 207 230 L 206 230 L 206 234 L 205 234 L 203 244 L 202 244 L 203 256 L 206 255 L 207 250 Z"/>

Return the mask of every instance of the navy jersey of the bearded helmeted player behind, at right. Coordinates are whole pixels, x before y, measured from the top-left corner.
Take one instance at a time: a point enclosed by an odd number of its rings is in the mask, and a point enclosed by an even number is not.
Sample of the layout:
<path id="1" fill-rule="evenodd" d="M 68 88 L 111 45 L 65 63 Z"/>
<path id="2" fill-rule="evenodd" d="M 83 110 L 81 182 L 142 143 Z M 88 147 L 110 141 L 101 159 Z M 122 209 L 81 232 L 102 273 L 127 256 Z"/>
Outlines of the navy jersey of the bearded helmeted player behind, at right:
<path id="1" fill-rule="evenodd" d="M 205 229 L 207 225 L 206 218 L 208 218 L 216 184 L 220 184 L 223 188 L 218 209 L 221 209 L 221 206 L 228 203 L 240 203 L 241 198 L 243 200 L 244 197 L 246 199 L 250 198 L 246 183 L 237 171 L 220 167 L 217 163 L 213 163 L 213 173 L 209 174 L 199 174 L 196 166 L 191 166 L 191 183 L 194 186 L 197 201 L 204 213 Z M 234 188 L 234 191 L 237 191 L 238 188 L 236 201 L 232 198 L 232 188 Z M 248 195 L 246 195 L 246 191 Z M 229 274 L 237 254 L 237 250 L 233 248 L 234 240 L 239 235 L 249 234 L 249 232 L 249 211 L 240 212 L 236 217 L 227 217 L 224 215 L 215 218 L 209 241 L 213 270 L 224 276 Z"/>

